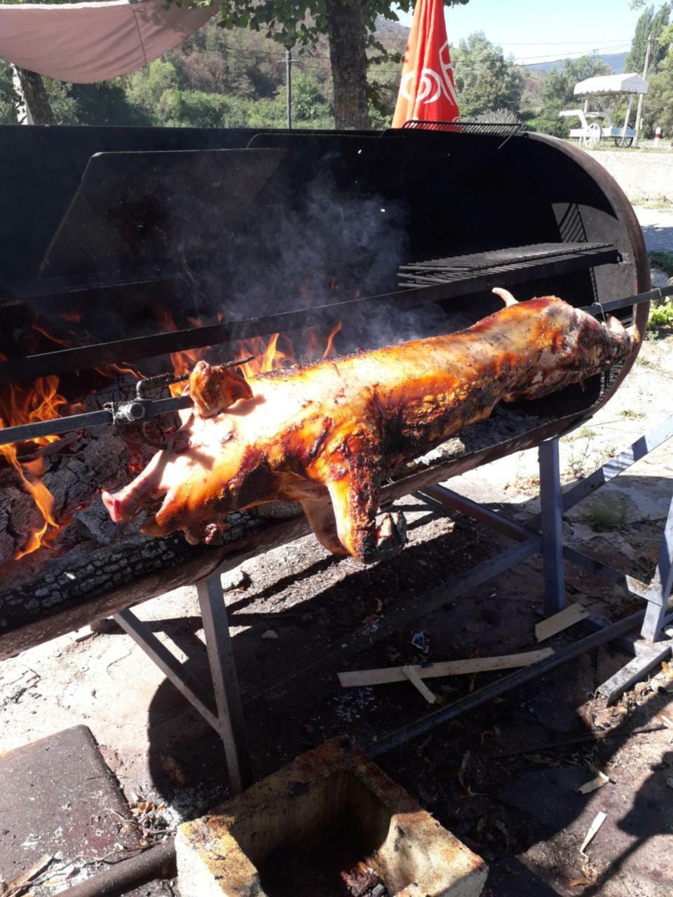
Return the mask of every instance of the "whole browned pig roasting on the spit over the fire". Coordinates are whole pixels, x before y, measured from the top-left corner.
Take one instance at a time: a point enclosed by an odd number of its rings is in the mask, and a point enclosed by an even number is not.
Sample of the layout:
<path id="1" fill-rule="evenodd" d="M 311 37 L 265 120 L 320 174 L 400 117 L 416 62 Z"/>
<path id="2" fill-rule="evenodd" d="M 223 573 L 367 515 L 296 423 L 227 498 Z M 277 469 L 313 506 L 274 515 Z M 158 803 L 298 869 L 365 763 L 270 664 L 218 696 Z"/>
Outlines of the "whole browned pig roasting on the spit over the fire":
<path id="1" fill-rule="evenodd" d="M 199 361 L 194 407 L 143 473 L 103 501 L 118 523 L 213 541 L 225 515 L 299 501 L 319 542 L 379 560 L 406 541 L 404 519 L 377 523 L 380 483 L 500 402 L 546 396 L 606 370 L 639 336 L 554 296 L 505 308 L 467 330 L 260 374 Z"/>

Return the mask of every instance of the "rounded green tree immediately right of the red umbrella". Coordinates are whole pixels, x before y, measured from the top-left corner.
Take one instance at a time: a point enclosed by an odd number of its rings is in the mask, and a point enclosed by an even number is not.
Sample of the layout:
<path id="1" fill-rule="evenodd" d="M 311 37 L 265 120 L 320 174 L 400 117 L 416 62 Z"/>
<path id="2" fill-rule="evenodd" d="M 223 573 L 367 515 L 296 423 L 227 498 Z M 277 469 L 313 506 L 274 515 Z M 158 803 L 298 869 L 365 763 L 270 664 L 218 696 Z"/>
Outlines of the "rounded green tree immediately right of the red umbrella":
<path id="1" fill-rule="evenodd" d="M 453 70 L 461 118 L 469 121 L 494 109 L 519 111 L 523 90 L 520 71 L 483 31 L 460 41 L 453 52 Z"/>

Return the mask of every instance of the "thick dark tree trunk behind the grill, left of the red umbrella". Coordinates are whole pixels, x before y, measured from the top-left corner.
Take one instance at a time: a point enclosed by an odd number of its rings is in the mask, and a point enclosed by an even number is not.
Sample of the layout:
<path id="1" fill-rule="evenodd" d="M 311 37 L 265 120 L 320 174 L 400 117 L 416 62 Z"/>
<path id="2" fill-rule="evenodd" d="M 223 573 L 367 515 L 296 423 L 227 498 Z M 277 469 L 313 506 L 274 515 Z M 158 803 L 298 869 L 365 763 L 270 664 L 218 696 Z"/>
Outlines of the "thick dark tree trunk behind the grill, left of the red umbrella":
<path id="1" fill-rule="evenodd" d="M 337 128 L 366 128 L 367 56 L 364 0 L 327 0 L 329 60 L 334 83 L 334 118 Z"/>

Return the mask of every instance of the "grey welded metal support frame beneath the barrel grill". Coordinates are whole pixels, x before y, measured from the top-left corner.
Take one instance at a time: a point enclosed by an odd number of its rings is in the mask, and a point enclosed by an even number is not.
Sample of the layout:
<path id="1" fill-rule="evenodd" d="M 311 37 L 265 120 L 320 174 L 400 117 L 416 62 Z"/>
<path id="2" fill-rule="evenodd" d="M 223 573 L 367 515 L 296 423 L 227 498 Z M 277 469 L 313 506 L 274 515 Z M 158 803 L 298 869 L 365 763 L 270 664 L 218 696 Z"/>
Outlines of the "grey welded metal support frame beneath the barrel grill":
<path id="1" fill-rule="evenodd" d="M 304 680 L 306 674 L 316 675 L 323 669 L 335 666 L 347 655 L 353 655 L 371 647 L 377 641 L 386 638 L 389 634 L 409 623 L 413 623 L 419 617 L 432 613 L 433 610 L 446 605 L 451 600 L 465 595 L 471 589 L 476 588 L 494 579 L 505 570 L 511 570 L 530 557 L 540 554 L 544 565 L 544 606 L 546 614 L 555 614 L 564 608 L 564 560 L 570 561 L 583 570 L 606 579 L 608 582 L 619 582 L 632 594 L 643 598 L 647 602 L 644 613 L 634 614 L 635 621 L 631 628 L 641 623 L 641 640 L 634 642 L 634 660 L 630 661 L 623 670 L 620 670 L 607 683 L 599 688 L 599 692 L 607 697 L 607 701 L 615 701 L 622 692 L 631 687 L 635 682 L 646 675 L 660 660 L 669 656 L 671 644 L 666 634 L 666 626 L 673 622 L 673 608 L 671 607 L 671 589 L 673 588 L 673 497 L 669 509 L 669 516 L 664 527 L 663 540 L 660 549 L 659 562 L 654 576 L 649 585 L 640 582 L 624 572 L 615 570 L 597 562 L 570 546 L 563 544 L 562 523 L 564 512 L 571 509 L 601 485 L 608 483 L 616 475 L 622 473 L 636 461 L 649 454 L 654 448 L 673 437 L 673 417 L 662 422 L 650 433 L 636 440 L 633 445 L 620 452 L 616 457 L 610 458 L 607 463 L 593 474 L 581 480 L 567 492 L 561 492 L 559 444 L 558 439 L 547 440 L 538 446 L 538 463 L 540 473 L 540 513 L 528 523 L 522 524 L 503 514 L 487 508 L 485 505 L 460 495 L 458 492 L 446 488 L 441 484 L 424 487 L 417 493 L 426 500 L 436 501 L 443 507 L 459 511 L 467 517 L 485 523 L 503 536 L 508 536 L 519 542 L 516 547 L 509 548 L 476 564 L 468 570 L 464 576 L 451 582 L 450 586 L 442 585 L 430 592 L 417 596 L 406 606 L 399 608 L 393 614 L 388 614 L 377 621 L 374 628 L 365 626 L 362 631 L 354 633 L 354 636 L 339 644 L 333 650 L 324 651 L 318 660 L 308 666 L 294 666 L 278 682 L 275 683 L 276 692 L 284 692 L 292 687 L 298 680 Z M 170 650 L 150 631 L 149 627 L 140 621 L 130 610 L 120 611 L 115 614 L 115 620 L 124 631 L 130 635 L 153 662 L 162 669 L 170 682 L 178 688 L 179 692 L 187 698 L 191 705 L 205 718 L 206 722 L 215 729 L 222 738 L 224 756 L 227 763 L 232 794 L 239 794 L 252 781 L 249 750 L 245 736 L 245 720 L 243 717 L 242 702 L 236 674 L 236 663 L 232 651 L 232 639 L 229 632 L 229 618 L 226 601 L 224 598 L 221 575 L 223 570 L 229 569 L 231 563 L 224 564 L 214 570 L 207 578 L 197 582 L 197 596 L 201 616 L 204 623 L 205 648 L 213 683 L 213 692 L 209 692 L 204 685 L 185 671 Z M 637 617 L 637 619 L 636 619 Z M 631 618 L 629 618 L 631 619 Z M 604 629 L 604 636 L 616 634 L 624 630 L 620 623 L 612 624 Z M 619 630 L 617 632 L 617 630 Z M 597 641 L 598 638 L 598 641 Z M 603 643 L 600 637 L 590 637 L 578 642 L 570 649 L 566 649 L 568 658 L 574 657 L 581 651 L 589 649 L 594 642 Z M 584 643 L 588 647 L 584 647 Z M 568 653 L 570 652 L 570 653 Z M 547 670 L 544 663 L 530 667 L 525 675 L 518 673 L 504 677 L 502 681 L 488 686 L 484 692 L 484 700 L 494 688 L 501 693 L 515 688 L 525 681 L 529 681 L 534 675 L 542 675 Z M 484 691 L 484 690 L 482 690 Z M 495 693 L 494 692 L 494 693 Z M 453 718 L 459 712 L 470 710 L 473 706 L 483 702 L 481 692 L 468 695 L 465 699 L 441 711 L 439 715 L 430 715 L 420 722 L 402 727 L 398 732 L 384 738 L 380 745 L 373 749 L 380 753 L 401 741 L 414 737 L 420 731 L 443 721 L 446 713 Z M 255 700 L 259 695 L 253 695 L 250 700 Z M 431 723 L 431 718 L 433 722 Z M 420 726 L 420 728 L 419 728 Z"/>

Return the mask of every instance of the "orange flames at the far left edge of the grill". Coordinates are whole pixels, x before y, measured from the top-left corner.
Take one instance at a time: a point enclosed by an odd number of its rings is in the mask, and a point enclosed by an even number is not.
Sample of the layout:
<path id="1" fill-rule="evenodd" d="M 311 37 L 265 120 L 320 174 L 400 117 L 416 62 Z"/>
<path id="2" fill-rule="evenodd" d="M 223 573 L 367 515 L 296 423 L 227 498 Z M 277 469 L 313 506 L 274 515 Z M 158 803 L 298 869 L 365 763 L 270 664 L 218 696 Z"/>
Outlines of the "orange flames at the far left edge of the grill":
<path id="1" fill-rule="evenodd" d="M 65 397 L 58 392 L 56 376 L 40 377 L 30 387 L 10 385 L 0 391 L 0 429 L 23 423 L 51 421 L 59 416 L 60 409 L 66 404 Z M 47 445 L 57 439 L 58 436 L 43 436 L 33 441 L 39 445 Z M 15 444 L 0 446 L 0 452 L 16 470 L 24 489 L 31 495 L 42 516 L 41 525 L 31 531 L 25 546 L 14 555 L 14 560 L 18 561 L 25 554 L 36 551 L 40 545 L 49 544 L 60 527 L 53 515 L 54 498 L 41 481 L 44 474 L 42 458 L 22 464 Z"/>

